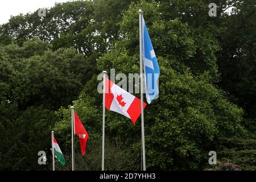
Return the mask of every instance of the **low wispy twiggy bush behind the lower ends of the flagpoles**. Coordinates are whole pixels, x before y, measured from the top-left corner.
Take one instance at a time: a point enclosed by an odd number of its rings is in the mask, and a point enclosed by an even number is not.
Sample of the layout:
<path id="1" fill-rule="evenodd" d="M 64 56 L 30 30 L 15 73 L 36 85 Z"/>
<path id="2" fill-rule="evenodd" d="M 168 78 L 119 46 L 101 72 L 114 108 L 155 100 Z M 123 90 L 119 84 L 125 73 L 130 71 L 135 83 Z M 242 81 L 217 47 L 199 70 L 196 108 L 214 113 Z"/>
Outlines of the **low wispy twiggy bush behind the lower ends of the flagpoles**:
<path id="1" fill-rule="evenodd" d="M 75 146 L 75 170 L 90 171 L 101 170 L 101 140 L 88 141 L 87 152 L 85 156 L 81 155 L 79 144 Z M 56 170 L 70 171 L 71 170 L 71 154 L 65 151 L 65 159 L 67 165 L 60 166 L 56 164 Z M 119 139 L 105 139 L 105 170 L 109 171 L 133 171 L 141 169 L 140 155 L 129 146 L 123 146 Z"/>

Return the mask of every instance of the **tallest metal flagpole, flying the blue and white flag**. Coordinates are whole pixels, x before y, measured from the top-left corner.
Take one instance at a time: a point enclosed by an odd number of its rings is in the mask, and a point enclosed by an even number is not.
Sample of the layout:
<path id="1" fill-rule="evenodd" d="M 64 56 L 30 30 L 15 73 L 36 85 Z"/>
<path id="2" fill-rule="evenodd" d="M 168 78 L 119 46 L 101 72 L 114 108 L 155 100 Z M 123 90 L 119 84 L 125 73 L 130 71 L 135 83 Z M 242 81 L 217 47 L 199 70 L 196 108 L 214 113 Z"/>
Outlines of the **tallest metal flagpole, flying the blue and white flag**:
<path id="1" fill-rule="evenodd" d="M 140 53 L 140 67 L 141 67 L 141 133 L 142 133 L 142 158 L 143 158 L 143 171 L 146 171 L 146 155 L 145 155 L 145 137 L 144 137 L 144 111 L 143 111 L 143 31 L 142 31 L 142 18 L 143 11 L 139 10 L 139 53 Z"/>

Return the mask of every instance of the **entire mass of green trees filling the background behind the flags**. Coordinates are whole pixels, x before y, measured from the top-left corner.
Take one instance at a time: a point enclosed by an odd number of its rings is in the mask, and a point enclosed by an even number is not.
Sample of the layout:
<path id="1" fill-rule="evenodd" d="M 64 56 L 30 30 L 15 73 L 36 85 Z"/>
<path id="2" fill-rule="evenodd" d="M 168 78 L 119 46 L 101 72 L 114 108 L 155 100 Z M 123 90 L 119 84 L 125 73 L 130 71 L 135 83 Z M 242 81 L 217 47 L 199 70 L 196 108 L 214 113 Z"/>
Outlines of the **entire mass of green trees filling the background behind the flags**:
<path id="1" fill-rule="evenodd" d="M 0 169 L 51 169 L 37 154 L 49 155 L 54 129 L 67 160 L 56 168 L 69 170 L 73 105 L 89 134 L 85 157 L 75 136 L 76 169 L 100 170 L 97 75 L 139 73 L 143 9 L 161 72 L 159 98 L 144 110 L 147 169 L 211 168 L 215 150 L 214 169 L 255 170 L 255 0 L 218 0 L 214 18 L 209 3 L 75 1 L 44 18 L 12 16 L 0 26 Z M 228 15 L 230 5 L 237 10 Z M 106 169 L 140 169 L 139 120 L 106 111 Z"/>

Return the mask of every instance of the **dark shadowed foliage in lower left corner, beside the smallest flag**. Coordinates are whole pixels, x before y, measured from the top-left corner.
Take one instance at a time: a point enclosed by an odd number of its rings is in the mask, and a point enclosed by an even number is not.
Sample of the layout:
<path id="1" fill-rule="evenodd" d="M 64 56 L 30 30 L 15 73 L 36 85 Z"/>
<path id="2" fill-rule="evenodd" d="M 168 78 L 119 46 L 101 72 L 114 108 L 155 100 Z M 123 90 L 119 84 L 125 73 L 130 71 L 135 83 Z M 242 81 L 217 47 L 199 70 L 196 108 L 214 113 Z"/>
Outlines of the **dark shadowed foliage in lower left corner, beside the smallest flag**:
<path id="1" fill-rule="evenodd" d="M 15 116 L 16 107 L 1 105 L 4 106 L 7 108 L 1 108 L 1 169 L 44 169 L 38 165 L 38 152 L 47 151 L 50 145 L 56 115 L 42 107 L 30 107 Z"/>

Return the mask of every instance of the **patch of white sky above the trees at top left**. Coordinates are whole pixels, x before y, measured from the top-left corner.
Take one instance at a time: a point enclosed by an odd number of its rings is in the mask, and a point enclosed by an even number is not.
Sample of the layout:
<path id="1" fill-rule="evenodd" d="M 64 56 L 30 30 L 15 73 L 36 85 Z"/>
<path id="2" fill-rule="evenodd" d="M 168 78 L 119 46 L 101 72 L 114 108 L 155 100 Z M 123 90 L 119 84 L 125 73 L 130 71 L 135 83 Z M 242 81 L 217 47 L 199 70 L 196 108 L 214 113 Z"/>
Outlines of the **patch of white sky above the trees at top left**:
<path id="1" fill-rule="evenodd" d="M 55 2 L 73 0 L 0 0 L 0 24 L 7 23 L 11 15 L 32 13 L 39 8 L 53 7 Z"/>

